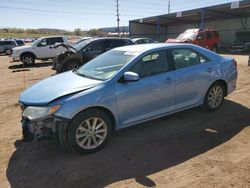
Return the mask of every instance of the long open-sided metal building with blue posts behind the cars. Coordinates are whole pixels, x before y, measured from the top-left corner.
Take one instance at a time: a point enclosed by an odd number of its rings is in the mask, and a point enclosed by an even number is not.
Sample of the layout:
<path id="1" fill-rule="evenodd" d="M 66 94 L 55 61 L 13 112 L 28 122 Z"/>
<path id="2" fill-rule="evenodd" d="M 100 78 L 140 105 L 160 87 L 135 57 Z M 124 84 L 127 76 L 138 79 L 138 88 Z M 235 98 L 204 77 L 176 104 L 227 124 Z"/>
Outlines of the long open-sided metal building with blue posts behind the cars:
<path id="1" fill-rule="evenodd" d="M 164 42 L 186 29 L 213 28 L 219 31 L 221 46 L 230 45 L 236 31 L 250 31 L 250 1 L 234 1 L 216 6 L 129 21 L 130 36 L 150 37 Z"/>

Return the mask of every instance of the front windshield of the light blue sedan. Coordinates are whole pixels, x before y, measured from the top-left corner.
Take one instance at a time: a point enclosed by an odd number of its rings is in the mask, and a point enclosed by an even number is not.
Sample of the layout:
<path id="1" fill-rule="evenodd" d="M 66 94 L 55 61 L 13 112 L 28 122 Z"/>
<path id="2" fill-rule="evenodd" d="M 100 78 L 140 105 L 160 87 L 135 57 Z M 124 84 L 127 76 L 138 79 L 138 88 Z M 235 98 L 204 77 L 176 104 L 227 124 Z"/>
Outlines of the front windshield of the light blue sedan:
<path id="1" fill-rule="evenodd" d="M 80 67 L 76 74 L 96 80 L 107 80 L 135 56 L 127 51 L 111 50 Z"/>

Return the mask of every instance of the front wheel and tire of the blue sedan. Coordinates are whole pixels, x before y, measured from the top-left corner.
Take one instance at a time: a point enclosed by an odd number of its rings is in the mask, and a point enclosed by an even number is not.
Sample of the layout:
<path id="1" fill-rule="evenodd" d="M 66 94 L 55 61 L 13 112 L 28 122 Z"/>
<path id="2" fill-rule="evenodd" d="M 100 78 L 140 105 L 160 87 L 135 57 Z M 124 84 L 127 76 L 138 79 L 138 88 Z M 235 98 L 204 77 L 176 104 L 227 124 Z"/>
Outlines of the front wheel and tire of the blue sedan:
<path id="1" fill-rule="evenodd" d="M 111 132 L 111 120 L 106 113 L 100 110 L 83 111 L 70 124 L 70 146 L 81 153 L 96 152 L 107 143 Z"/>

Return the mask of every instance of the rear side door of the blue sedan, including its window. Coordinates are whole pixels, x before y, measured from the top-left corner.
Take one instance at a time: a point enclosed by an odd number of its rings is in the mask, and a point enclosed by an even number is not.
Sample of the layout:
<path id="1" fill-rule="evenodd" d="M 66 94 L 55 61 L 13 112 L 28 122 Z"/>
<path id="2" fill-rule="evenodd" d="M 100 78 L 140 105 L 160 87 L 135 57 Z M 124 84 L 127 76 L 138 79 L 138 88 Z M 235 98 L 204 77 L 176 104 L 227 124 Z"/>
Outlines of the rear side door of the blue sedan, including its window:
<path id="1" fill-rule="evenodd" d="M 213 80 L 215 64 L 190 48 L 171 49 L 175 64 L 175 110 L 201 102 Z"/>

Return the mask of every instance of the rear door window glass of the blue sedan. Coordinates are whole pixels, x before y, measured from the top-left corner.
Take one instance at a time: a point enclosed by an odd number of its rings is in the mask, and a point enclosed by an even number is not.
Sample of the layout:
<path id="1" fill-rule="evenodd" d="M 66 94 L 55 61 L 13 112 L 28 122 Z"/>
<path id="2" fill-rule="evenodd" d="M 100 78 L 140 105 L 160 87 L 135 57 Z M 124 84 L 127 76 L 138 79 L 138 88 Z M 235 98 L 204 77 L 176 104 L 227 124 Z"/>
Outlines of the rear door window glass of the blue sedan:
<path id="1" fill-rule="evenodd" d="M 191 49 L 172 49 L 175 68 L 181 69 L 207 62 L 207 58 Z"/>

